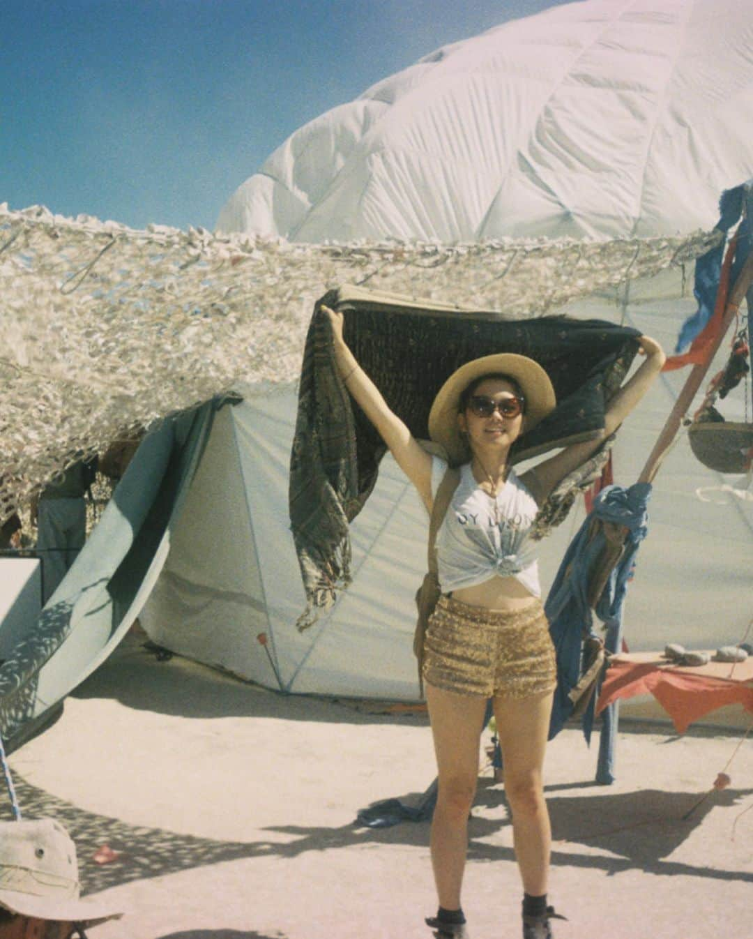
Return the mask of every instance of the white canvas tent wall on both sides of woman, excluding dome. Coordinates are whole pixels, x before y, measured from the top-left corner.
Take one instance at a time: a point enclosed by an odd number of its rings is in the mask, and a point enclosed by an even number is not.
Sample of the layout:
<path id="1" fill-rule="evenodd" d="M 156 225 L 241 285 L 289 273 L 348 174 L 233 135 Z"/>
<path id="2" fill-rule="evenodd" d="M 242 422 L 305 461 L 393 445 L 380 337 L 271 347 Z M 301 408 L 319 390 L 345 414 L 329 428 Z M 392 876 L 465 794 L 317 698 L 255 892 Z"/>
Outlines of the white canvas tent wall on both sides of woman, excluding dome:
<path id="1" fill-rule="evenodd" d="M 661 300 L 652 306 L 651 325 L 661 334 L 666 311 Z M 616 309 L 608 300 L 587 307 L 605 318 Z M 660 382 L 622 432 L 616 465 L 625 482 L 637 478 L 672 400 L 671 385 Z M 168 648 L 269 687 L 416 700 L 413 594 L 425 566 L 427 519 L 389 456 L 351 526 L 352 585 L 311 631 L 295 630 L 304 597 L 286 498 L 296 402 L 294 386 L 248 388 L 242 403 L 216 416 L 141 622 Z M 730 597 L 743 604 L 749 593 L 753 500 L 744 502 L 725 485 L 685 445 L 669 455 L 627 604 L 631 649 L 739 639 L 745 613 Z M 542 543 L 545 591 L 582 516 L 581 508 Z"/>

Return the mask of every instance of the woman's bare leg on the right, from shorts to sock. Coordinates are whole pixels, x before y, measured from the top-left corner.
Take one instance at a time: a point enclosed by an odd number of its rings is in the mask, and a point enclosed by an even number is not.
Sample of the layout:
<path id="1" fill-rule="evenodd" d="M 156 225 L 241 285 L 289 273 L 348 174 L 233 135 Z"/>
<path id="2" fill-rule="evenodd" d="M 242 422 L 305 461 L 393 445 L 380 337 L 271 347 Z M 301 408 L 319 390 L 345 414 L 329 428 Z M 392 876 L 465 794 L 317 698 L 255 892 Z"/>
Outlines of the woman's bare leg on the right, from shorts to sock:
<path id="1" fill-rule="evenodd" d="M 522 700 L 495 698 L 504 789 L 513 813 L 513 843 L 523 889 L 546 893 L 551 827 L 544 799 L 542 769 L 553 693 Z"/>

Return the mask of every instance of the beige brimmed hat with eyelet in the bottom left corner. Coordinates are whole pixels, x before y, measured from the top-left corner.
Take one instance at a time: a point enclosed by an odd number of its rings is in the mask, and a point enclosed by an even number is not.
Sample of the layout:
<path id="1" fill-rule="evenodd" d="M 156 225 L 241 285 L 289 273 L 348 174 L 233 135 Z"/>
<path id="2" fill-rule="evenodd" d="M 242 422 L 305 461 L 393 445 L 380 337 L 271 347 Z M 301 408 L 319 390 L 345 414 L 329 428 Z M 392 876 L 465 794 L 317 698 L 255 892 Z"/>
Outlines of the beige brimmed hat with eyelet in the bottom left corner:
<path id="1" fill-rule="evenodd" d="M 32 919 L 84 926 L 122 916 L 81 900 L 76 846 L 53 819 L 0 822 L 0 906 Z"/>

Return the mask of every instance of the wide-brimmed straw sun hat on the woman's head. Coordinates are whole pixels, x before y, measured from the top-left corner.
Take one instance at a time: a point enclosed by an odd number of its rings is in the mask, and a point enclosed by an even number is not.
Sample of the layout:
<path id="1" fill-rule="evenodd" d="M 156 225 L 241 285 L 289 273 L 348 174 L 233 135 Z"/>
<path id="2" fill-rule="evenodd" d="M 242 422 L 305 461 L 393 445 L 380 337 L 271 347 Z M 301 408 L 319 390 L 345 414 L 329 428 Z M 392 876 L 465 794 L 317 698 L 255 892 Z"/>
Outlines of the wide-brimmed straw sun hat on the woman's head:
<path id="1" fill-rule="evenodd" d="M 525 398 L 524 433 L 543 421 L 557 404 L 549 376 L 527 356 L 499 352 L 466 362 L 439 389 L 429 412 L 429 437 L 445 449 L 452 463 L 464 463 L 470 455 L 457 423 L 460 396 L 471 382 L 484 375 L 509 376 L 520 386 Z"/>

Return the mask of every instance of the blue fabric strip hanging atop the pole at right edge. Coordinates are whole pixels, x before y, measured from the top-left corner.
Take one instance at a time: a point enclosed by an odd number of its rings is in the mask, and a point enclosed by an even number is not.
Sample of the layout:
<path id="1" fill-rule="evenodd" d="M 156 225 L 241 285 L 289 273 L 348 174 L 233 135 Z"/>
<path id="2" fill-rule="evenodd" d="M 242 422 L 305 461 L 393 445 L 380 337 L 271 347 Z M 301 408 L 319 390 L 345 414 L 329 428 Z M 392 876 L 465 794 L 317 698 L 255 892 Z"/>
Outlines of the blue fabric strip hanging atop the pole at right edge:
<path id="1" fill-rule="evenodd" d="M 753 179 L 749 179 L 734 189 L 728 189 L 722 192 L 719 200 L 719 221 L 715 228 L 719 231 L 728 232 L 730 228 L 740 221 L 743 216 L 743 223 L 738 233 L 737 251 L 735 253 L 734 263 L 732 265 L 731 283 L 734 284 L 740 269 L 743 267 L 745 258 L 753 247 L 753 232 L 751 231 L 751 201 L 753 196 Z M 680 328 L 680 334 L 677 337 L 675 354 L 684 351 L 686 346 L 699 335 L 708 321 L 714 314 L 716 302 L 716 291 L 719 287 L 719 277 L 722 269 L 722 259 L 724 257 L 725 241 L 712 248 L 711 251 L 701 255 L 696 261 L 696 277 L 693 286 L 693 295 L 698 300 L 698 310 L 693 316 L 688 316 Z"/>

